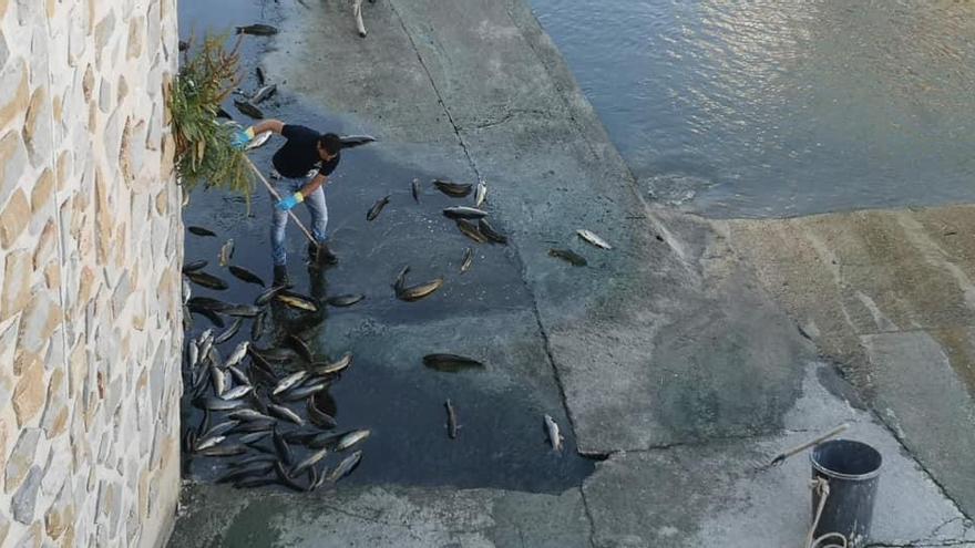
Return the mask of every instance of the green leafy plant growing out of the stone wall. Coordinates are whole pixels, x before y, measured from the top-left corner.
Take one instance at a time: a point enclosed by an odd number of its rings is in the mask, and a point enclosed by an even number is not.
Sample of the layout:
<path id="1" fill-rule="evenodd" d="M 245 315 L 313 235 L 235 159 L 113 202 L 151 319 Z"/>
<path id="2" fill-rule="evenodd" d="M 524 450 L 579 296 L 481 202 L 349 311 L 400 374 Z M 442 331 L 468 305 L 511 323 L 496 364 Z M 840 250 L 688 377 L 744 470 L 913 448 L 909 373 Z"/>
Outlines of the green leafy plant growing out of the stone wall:
<path id="1" fill-rule="evenodd" d="M 187 48 L 170 90 L 176 168 L 187 193 L 203 183 L 207 188 L 239 193 L 249 206 L 254 175 L 244 153 L 230 146 L 238 128 L 217 118 L 220 103 L 239 83 L 240 41 L 229 51 L 225 41 L 225 37 L 208 37 L 196 51 Z"/>

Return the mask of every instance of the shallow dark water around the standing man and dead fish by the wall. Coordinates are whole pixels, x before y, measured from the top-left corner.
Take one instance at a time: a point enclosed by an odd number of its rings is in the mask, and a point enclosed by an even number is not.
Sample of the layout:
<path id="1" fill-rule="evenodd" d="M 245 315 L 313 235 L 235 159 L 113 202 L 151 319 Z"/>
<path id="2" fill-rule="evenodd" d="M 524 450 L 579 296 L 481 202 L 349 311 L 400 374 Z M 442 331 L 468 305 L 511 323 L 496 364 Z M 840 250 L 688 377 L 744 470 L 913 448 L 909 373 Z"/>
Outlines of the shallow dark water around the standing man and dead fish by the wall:
<path id="1" fill-rule="evenodd" d="M 198 34 L 203 29 L 222 32 L 227 25 L 252 22 L 281 24 L 274 3 L 267 2 L 182 2 L 179 9 L 184 38 L 192 28 Z M 233 14 L 229 19 L 228 13 Z M 245 91 L 257 87 L 254 66 L 264 49 L 273 43 L 269 39 L 250 38 L 245 42 L 242 72 L 247 77 L 240 84 Z M 301 97 L 288 93 L 287 83 L 278 84 L 278 95 L 260 105 L 267 116 L 322 131 L 369 133 L 369 127 L 355 120 L 304 103 Z M 239 122 L 249 123 L 229 102 L 225 108 Z M 250 157 L 266 173 L 271 154 L 283 143 L 280 137 L 275 137 Z M 284 334 L 290 332 L 308 341 L 319 360 L 353 351 L 352 368 L 319 399 L 321 407 L 338 421 L 337 432 L 372 431 L 359 447 L 363 451 L 361 465 L 343 484 L 452 485 L 533 492 L 561 492 L 578 485 L 592 472 L 593 463 L 576 455 L 564 411 L 542 405 L 540 400 L 551 401 L 551 397 L 540 399 L 533 389 L 543 385 L 556 390 L 551 372 L 548 379 L 537 383 L 525 382 L 499 391 L 484 382 L 489 373 L 450 374 L 423 369 L 418 361 L 415 338 L 409 347 L 407 341 L 392 335 L 357 339 L 358 331 L 352 328 L 391 325 L 400 331 L 419 330 L 429 322 L 450 321 L 458 314 L 488 317 L 524 310 L 531 300 L 520 278 L 520 267 L 504 247 L 478 246 L 475 268 L 463 276 L 456 273 L 461 255 L 471 242 L 456 231 L 452 221 L 440 215 L 440 209 L 459 203 L 427 188 L 422 204 L 414 204 L 410 180 L 418 177 L 429 182 L 438 174 L 390 164 L 378 154 L 382 146 L 377 143 L 345 152 L 330 178 L 326 193 L 328 229 L 332 249 L 340 258 L 337 267 L 324 275 L 309 270 L 306 240 L 294 225 L 288 229 L 288 267 L 296 291 L 322 298 L 361 292 L 367 296 L 366 300 L 348 309 L 329 308 L 324 317 L 302 317 L 276 308 L 273 332 L 257 344 L 280 345 Z M 376 221 L 368 223 L 366 211 L 384 195 L 391 195 L 390 204 Z M 212 291 L 194 285 L 194 296 L 249 303 L 260 291 L 217 266 L 217 254 L 228 238 L 234 239 L 236 247 L 232 263 L 270 281 L 270 207 L 267 193 L 260 187 L 249 213 L 239 197 L 203 190 L 192 195 L 189 206 L 184 209 L 185 225 L 211 228 L 218 237 L 202 238 L 187 232 L 186 260 L 208 259 L 211 265 L 205 270 L 220 276 L 230 286 L 226 291 Z M 296 213 L 302 220 L 308 219 L 304 206 Z M 411 283 L 443 276 L 447 285 L 433 297 L 419 302 L 398 301 L 390 285 L 403 265 L 412 267 Z M 211 327 L 202 317 L 194 316 L 194 335 Z M 239 341 L 249 338 L 249 328 L 247 320 L 240 333 L 220 345 L 224 358 Z M 342 332 L 330 332 L 336 329 Z M 336 340 L 343 344 L 329 343 Z M 409 364 L 404 366 L 402 362 Z M 285 365 L 280 374 L 298 366 L 300 363 Z M 456 441 L 449 440 L 445 433 L 443 403 L 447 397 L 458 407 L 462 424 Z M 302 406 L 304 402 L 291 405 L 296 411 Z M 553 414 L 567 431 L 566 448 L 561 456 L 546 448 L 543 413 Z M 202 420 L 202 413 L 189 404 L 188 396 L 184 399 L 183 420 L 191 427 Z M 213 423 L 220 420 L 214 417 Z M 327 463 L 335 466 L 340 458 L 331 455 Z M 192 458 L 184 473 L 195 479 L 209 480 L 225 469 L 226 461 L 233 458 Z"/>

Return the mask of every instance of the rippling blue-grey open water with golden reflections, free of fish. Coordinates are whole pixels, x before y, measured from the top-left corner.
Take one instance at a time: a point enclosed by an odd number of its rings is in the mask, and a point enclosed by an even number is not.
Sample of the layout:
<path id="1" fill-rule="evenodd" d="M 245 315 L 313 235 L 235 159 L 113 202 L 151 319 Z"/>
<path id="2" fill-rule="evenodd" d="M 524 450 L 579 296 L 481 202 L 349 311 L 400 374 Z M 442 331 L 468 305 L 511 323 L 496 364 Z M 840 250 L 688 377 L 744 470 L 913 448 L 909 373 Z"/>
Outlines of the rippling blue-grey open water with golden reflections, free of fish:
<path id="1" fill-rule="evenodd" d="M 531 0 L 647 194 L 707 215 L 975 199 L 975 3 Z"/>

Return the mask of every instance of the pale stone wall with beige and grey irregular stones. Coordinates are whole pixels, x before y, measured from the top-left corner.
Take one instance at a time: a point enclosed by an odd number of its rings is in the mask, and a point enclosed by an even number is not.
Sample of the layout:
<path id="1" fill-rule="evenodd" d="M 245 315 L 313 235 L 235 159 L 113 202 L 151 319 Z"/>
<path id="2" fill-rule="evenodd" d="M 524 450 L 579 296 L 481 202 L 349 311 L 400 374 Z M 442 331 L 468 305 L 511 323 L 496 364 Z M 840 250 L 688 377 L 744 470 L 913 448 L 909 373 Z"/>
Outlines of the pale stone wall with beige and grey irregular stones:
<path id="1" fill-rule="evenodd" d="M 0 546 L 157 546 L 179 484 L 175 0 L 0 0 Z"/>

